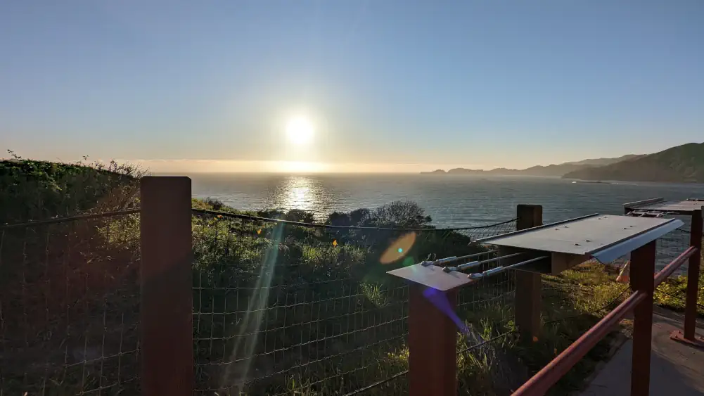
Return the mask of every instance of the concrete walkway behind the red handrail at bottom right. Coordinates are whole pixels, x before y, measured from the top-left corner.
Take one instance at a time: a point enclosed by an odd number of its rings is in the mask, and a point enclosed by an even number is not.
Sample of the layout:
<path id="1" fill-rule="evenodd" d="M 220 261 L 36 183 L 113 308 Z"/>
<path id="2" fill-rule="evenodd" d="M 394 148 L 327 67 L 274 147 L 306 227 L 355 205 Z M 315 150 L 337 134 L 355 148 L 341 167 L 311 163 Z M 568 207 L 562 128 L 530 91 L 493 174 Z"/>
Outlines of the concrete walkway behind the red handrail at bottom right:
<path id="1" fill-rule="evenodd" d="M 653 312 L 653 351 L 650 352 L 650 395 L 704 395 L 704 349 L 670 340 L 681 330 L 684 316 L 658 309 Z M 701 323 L 697 323 L 701 326 Z M 697 328 L 699 335 L 704 329 Z M 596 374 L 582 396 L 630 395 L 631 350 L 628 340 Z"/>

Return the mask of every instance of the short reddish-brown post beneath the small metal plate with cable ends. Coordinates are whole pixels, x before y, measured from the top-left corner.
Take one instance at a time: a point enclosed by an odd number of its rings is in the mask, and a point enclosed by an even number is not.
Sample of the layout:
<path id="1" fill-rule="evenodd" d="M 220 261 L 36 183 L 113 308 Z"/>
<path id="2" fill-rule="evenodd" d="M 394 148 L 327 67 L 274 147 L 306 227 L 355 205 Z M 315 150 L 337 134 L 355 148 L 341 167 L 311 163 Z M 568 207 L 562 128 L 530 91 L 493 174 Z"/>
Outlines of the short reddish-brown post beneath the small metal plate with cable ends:
<path id="1" fill-rule="evenodd" d="M 451 318 L 423 295 L 422 285 L 411 285 L 408 307 L 408 385 L 410 396 L 457 395 L 457 333 Z M 455 311 L 457 290 L 440 292 Z"/>

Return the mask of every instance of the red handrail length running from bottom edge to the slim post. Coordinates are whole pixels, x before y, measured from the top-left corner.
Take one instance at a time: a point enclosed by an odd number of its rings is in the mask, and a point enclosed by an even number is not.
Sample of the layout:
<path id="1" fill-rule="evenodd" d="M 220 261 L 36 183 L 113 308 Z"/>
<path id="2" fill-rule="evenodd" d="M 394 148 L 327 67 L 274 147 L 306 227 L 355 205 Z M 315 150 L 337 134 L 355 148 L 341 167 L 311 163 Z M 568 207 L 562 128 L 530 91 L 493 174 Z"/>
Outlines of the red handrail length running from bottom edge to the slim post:
<path id="1" fill-rule="evenodd" d="M 572 366 L 577 364 L 577 361 L 582 359 L 594 345 L 601 341 L 629 311 L 643 302 L 646 297 L 646 292 L 634 292 L 613 311 L 610 311 L 608 315 L 604 316 L 601 321 L 584 333 L 582 337 L 562 351 L 558 357 L 555 357 L 553 361 L 548 363 L 547 366 L 543 367 L 541 371 L 524 383 L 513 393 L 513 396 L 543 395 L 551 386 L 555 385 L 567 371 L 570 371 Z"/>

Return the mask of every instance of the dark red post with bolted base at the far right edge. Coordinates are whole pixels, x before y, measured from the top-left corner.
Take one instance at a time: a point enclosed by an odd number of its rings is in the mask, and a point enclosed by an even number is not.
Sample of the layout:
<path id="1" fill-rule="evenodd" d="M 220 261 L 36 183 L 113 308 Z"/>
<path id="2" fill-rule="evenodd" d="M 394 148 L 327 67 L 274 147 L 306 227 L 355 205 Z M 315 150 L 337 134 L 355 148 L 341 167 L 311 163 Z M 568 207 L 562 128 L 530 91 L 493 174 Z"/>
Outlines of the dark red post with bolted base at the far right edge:
<path id="1" fill-rule="evenodd" d="M 698 252 L 689 257 L 687 270 L 687 303 L 684 308 L 684 339 L 696 342 L 695 328 L 697 324 L 697 295 L 699 291 L 699 265 L 702 251 L 703 219 L 701 209 L 692 213 L 692 228 L 689 235 L 689 245 L 696 247 Z"/>

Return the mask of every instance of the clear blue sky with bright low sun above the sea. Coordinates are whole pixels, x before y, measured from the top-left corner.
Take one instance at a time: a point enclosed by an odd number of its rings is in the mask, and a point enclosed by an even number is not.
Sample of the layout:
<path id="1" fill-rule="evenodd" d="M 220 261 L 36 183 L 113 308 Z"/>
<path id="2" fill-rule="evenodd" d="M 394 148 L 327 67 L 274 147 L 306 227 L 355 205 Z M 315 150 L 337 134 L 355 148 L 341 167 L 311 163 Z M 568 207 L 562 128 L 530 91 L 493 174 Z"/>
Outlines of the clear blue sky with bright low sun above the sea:
<path id="1" fill-rule="evenodd" d="M 152 171 L 651 153 L 704 140 L 703 21 L 700 0 L 2 1 L 0 149 Z"/>

